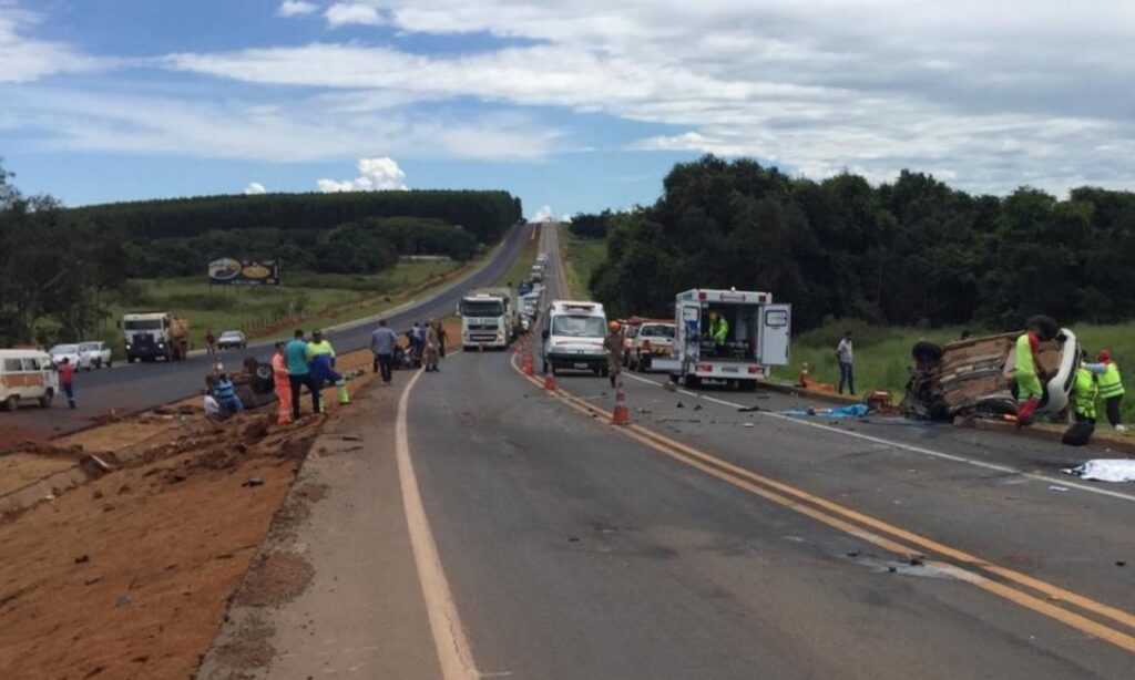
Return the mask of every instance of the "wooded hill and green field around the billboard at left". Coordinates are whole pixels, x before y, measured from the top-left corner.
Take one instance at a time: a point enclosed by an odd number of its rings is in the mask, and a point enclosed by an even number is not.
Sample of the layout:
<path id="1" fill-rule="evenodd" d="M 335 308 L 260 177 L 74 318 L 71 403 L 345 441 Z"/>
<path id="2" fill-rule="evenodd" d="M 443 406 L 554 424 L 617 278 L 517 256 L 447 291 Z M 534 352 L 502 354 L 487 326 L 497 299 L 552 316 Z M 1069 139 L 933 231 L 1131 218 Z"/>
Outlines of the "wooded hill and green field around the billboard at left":
<path id="1" fill-rule="evenodd" d="M 482 258 L 522 214 L 505 192 L 216 196 L 65 209 L 0 167 L 0 347 L 104 340 L 124 312 L 274 335 L 381 313 Z M 407 261 L 428 255 L 444 261 Z M 219 257 L 281 262 L 279 288 L 210 288 Z"/>

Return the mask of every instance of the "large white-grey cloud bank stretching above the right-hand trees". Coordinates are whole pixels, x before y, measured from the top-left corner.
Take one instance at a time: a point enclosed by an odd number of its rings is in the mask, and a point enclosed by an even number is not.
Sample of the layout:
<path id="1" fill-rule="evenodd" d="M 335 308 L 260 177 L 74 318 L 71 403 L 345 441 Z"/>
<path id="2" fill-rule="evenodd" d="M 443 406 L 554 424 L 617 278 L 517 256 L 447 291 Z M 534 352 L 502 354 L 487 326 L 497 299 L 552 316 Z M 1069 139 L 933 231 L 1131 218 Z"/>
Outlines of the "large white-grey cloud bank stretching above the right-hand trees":
<path id="1" fill-rule="evenodd" d="M 406 33 L 531 44 L 420 54 L 308 44 L 173 68 L 419 101 L 476 99 L 674 126 L 632 150 L 809 175 L 953 173 L 967 188 L 1135 181 L 1135 10 L 1113 0 L 351 0 Z M 346 15 L 339 17 L 344 20 Z M 328 22 L 331 17 L 328 16 Z M 397 44 L 397 43 L 395 43 Z M 511 43 L 515 44 L 515 43 Z M 498 129 L 507 129 L 501 126 Z"/>

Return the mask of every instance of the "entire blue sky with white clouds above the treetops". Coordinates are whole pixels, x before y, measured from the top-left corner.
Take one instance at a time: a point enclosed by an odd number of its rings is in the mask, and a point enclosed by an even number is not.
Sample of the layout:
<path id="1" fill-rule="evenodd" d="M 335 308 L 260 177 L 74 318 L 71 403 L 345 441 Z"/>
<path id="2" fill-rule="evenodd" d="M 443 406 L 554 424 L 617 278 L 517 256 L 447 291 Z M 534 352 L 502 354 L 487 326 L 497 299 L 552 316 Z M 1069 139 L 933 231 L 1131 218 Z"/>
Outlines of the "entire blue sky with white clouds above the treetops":
<path id="1" fill-rule="evenodd" d="M 0 0 L 0 156 L 72 205 L 466 187 L 562 215 L 706 152 L 1129 188 L 1135 12 L 1066 5 Z"/>

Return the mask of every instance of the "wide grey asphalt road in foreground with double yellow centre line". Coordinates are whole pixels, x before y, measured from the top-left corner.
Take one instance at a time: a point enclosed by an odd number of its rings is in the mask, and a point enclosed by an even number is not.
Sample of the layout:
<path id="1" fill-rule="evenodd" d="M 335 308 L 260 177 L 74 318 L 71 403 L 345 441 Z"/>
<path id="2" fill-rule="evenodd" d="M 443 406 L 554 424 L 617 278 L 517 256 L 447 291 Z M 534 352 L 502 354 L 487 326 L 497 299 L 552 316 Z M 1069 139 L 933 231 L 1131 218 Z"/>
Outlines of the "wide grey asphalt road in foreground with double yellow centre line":
<path id="1" fill-rule="evenodd" d="M 1059 471 L 1105 452 L 656 374 L 619 427 L 607 381 L 549 392 L 519 356 L 457 355 L 409 400 L 481 677 L 1135 677 L 1135 493 Z"/>

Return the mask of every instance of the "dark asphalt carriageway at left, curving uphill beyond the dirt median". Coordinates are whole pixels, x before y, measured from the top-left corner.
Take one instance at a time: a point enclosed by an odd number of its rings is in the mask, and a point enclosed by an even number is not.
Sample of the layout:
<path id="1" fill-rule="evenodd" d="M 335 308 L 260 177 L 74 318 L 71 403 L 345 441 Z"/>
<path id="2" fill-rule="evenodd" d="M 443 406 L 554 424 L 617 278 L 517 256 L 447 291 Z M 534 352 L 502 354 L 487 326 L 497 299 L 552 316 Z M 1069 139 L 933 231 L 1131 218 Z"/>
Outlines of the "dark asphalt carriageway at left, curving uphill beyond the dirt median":
<path id="1" fill-rule="evenodd" d="M 449 283 L 440 291 L 428 294 L 421 300 L 403 306 L 389 314 L 390 326 L 402 332 L 415 321 L 447 316 L 457 307 L 461 296 L 470 288 L 494 283 L 507 271 L 523 246 L 524 239 L 532 237 L 533 227 L 513 228 L 505 237 L 503 246 L 481 269 Z M 191 320 L 192 321 L 192 320 Z M 327 333 L 337 351 L 350 351 L 367 347 L 375 323 L 368 322 Z M 311 329 L 306 329 L 311 330 Z M 226 364 L 239 365 L 246 356 L 261 362 L 271 358 L 271 342 L 255 342 L 245 351 L 221 352 Z M 5 426 L 26 428 L 33 432 L 62 434 L 87 427 L 94 418 L 111 409 L 131 411 L 168 403 L 192 397 L 203 388 L 203 381 L 211 366 L 211 358 L 192 356 L 185 362 L 167 364 L 118 364 L 109 371 L 95 371 L 76 375 L 76 391 L 79 407 L 66 408 L 66 400 L 57 399 L 50 409 L 23 408 L 16 414 L 2 414 Z"/>

